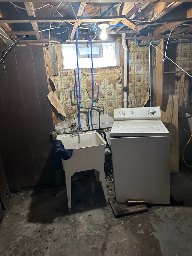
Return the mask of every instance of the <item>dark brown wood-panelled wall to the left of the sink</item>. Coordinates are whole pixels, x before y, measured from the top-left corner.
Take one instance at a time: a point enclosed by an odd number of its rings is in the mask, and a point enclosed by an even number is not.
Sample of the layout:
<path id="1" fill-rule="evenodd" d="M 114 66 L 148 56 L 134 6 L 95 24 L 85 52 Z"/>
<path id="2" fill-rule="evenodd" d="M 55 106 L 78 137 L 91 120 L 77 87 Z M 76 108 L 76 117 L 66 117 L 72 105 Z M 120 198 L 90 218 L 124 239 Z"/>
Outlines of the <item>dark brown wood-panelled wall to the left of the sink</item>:
<path id="1" fill-rule="evenodd" d="M 10 188 L 49 183 L 52 114 L 42 45 L 16 46 L 0 64 L 0 152 Z"/>

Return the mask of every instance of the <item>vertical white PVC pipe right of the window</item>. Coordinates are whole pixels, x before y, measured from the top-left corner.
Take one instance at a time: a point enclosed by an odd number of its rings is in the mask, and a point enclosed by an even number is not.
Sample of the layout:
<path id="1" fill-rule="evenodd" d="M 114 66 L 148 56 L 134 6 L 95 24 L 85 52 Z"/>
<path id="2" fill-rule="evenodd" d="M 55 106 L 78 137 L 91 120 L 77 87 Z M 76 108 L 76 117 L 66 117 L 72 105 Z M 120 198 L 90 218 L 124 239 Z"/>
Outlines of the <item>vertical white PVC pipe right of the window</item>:
<path id="1" fill-rule="evenodd" d="M 123 87 L 127 87 L 127 60 L 128 60 L 128 47 L 126 44 L 126 34 L 122 33 L 122 46 L 124 53 L 124 76 L 123 76 Z M 123 107 L 127 108 L 127 91 L 123 90 Z"/>

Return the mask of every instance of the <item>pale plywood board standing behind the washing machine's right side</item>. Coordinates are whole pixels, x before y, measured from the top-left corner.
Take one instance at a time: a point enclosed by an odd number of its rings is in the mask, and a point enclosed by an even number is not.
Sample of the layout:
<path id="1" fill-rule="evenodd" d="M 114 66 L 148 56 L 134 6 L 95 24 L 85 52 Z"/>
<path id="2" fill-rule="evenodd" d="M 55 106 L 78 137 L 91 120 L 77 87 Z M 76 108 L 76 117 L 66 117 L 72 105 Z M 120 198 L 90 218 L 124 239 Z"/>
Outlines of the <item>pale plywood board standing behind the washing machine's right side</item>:
<path id="1" fill-rule="evenodd" d="M 179 173 L 178 96 L 164 97 L 161 121 L 170 131 L 170 172 Z"/>

